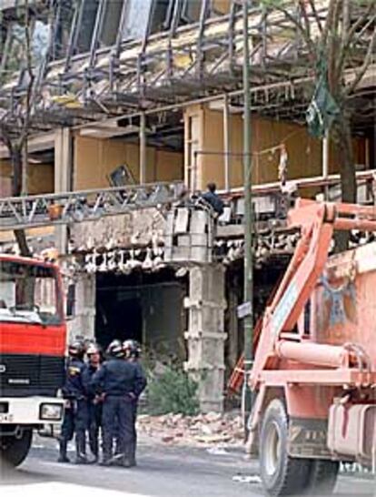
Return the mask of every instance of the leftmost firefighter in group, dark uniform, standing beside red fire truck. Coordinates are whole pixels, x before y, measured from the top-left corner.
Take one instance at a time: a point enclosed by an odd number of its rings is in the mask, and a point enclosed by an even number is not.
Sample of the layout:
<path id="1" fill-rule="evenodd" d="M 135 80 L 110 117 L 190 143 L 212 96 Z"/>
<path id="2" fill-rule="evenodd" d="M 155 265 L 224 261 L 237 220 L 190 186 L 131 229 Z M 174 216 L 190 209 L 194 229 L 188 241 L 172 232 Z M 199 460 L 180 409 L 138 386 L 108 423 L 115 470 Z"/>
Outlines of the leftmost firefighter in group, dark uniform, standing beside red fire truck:
<path id="1" fill-rule="evenodd" d="M 74 341 L 68 347 L 69 359 L 66 365 L 63 397 L 65 399 L 64 420 L 60 435 L 60 452 L 58 462 L 70 462 L 66 451 L 68 441 L 75 434 L 77 464 L 85 464 L 86 429 L 87 429 L 87 383 L 84 364 L 84 343 Z"/>

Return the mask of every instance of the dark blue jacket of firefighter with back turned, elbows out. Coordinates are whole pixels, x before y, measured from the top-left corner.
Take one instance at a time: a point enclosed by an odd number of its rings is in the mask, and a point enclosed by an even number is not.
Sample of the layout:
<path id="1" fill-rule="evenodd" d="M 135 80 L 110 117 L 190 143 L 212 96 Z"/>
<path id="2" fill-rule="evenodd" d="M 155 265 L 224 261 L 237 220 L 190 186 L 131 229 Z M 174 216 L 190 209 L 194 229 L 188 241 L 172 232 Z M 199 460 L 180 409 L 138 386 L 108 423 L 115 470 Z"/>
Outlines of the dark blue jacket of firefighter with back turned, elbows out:
<path id="1" fill-rule="evenodd" d="M 92 378 L 94 391 L 105 395 L 127 396 L 136 398 L 146 386 L 143 370 L 132 362 L 124 359 L 110 359 L 104 362 L 101 369 Z"/>

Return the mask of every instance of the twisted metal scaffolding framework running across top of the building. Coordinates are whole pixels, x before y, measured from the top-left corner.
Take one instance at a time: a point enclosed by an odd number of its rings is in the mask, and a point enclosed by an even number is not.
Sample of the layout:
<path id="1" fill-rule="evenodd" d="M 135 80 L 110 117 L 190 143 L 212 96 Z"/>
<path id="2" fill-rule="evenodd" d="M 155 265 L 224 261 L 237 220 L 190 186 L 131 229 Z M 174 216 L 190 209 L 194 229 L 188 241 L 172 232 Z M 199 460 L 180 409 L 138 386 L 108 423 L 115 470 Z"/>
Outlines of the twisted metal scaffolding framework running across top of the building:
<path id="1" fill-rule="evenodd" d="M 37 67 L 33 86 L 32 125 L 36 130 L 62 123 L 74 126 L 109 117 L 158 113 L 185 106 L 193 99 L 211 99 L 223 94 L 230 97 L 232 105 L 242 105 L 244 36 L 239 2 L 229 0 L 228 13 L 218 15 L 213 0 L 202 0 L 201 8 L 195 13 L 196 22 L 182 25 L 187 2 L 171 0 L 164 3 L 168 9 L 163 11 L 162 31 L 153 32 L 153 13 L 158 2 L 151 0 L 141 39 L 124 40 L 133 0 L 122 0 L 118 2 L 122 8 L 114 43 L 103 46 L 107 2 L 98 0 L 90 45 L 85 46 L 80 34 L 87 22 L 84 9 L 90 1 L 73 2 L 74 8 L 69 12 L 70 0 L 51 1 L 43 10 L 50 29 L 48 46 Z M 296 122 L 304 120 L 312 97 L 315 68 L 295 20 L 304 16 L 314 39 L 319 35 L 320 22 L 328 14 L 328 4 L 328 0 L 286 2 L 282 12 L 253 3 L 249 39 L 255 112 Z M 366 3 L 352 5 L 352 25 L 357 24 L 366 9 Z M 63 43 L 62 16 L 68 14 L 69 36 L 64 50 L 57 49 Z M 352 66 L 347 68 L 350 80 L 364 59 L 373 25 L 366 18 L 356 29 L 361 35 L 356 39 Z M 27 75 L 21 70 L 0 90 L 0 119 L 5 118 L 10 127 L 17 124 L 26 89 Z M 367 126 L 373 114 L 361 113 L 364 109 L 369 112 L 373 97 L 372 91 L 361 95 L 367 105 L 359 105 L 357 119 L 363 119 Z"/>

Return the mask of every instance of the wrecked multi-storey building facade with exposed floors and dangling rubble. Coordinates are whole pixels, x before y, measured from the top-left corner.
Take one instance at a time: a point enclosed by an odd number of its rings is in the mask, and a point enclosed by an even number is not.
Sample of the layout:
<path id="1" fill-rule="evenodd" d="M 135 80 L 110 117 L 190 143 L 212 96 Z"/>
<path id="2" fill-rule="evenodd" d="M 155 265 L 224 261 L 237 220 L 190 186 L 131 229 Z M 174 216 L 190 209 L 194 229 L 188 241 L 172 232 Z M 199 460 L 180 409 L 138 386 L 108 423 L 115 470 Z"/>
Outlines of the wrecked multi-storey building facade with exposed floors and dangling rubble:
<path id="1" fill-rule="evenodd" d="M 64 270 L 71 335 L 95 338 L 104 347 L 114 338 L 134 338 L 157 356 L 184 361 L 200 382 L 203 411 L 223 409 L 225 379 L 242 353 L 240 4 L 29 0 L 32 85 L 30 67 L 21 64 L 25 2 L 5 0 L 1 7 L 3 137 L 19 137 L 25 117 L 20 108 L 28 88 L 33 92 L 25 192 L 46 198 L 84 192 L 81 213 L 76 208 L 69 222 L 23 225 L 34 252 L 53 253 Z M 324 18 L 328 2 L 315 4 Z M 314 84 L 296 27 L 282 12 L 252 5 L 257 318 L 299 239 L 285 226 L 289 203 L 297 195 L 341 198 L 341 164 L 334 144 L 313 138 L 305 125 Z M 351 22 L 361 9 L 354 8 Z M 368 27 L 366 21 L 359 26 L 365 37 Z M 345 73 L 350 82 L 354 71 L 349 67 Z M 363 203 L 375 199 L 370 75 L 354 98 L 358 111 L 352 124 Z M 0 194 L 9 198 L 14 169 L 2 141 Z M 198 199 L 208 182 L 216 183 L 225 205 L 215 222 Z M 181 193 L 172 203 L 161 194 L 148 207 L 147 184 L 159 184 L 161 191 L 178 185 Z M 96 218 L 87 220 L 85 208 L 102 191 L 135 187 L 132 208 L 117 207 L 113 216 L 97 209 Z M 4 228 L 0 242 L 3 250 L 14 248 Z"/>

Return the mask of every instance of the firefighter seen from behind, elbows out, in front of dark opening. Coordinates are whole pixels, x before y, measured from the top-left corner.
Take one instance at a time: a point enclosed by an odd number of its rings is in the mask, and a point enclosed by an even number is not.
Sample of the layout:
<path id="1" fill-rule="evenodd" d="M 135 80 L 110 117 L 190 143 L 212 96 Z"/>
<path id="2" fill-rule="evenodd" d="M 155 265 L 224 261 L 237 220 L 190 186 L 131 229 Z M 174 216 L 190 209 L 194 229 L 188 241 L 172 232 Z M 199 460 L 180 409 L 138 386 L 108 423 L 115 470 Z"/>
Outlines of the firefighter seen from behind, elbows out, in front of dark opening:
<path id="1" fill-rule="evenodd" d="M 140 369 L 124 360 L 123 345 L 114 340 L 108 347 L 109 360 L 94 373 L 92 385 L 95 391 L 103 391 L 103 460 L 109 466 L 115 461 L 124 467 L 131 467 L 130 447 L 134 437 L 134 399 L 137 399 L 146 385 Z M 122 457 L 113 459 L 114 429 L 117 427 L 118 449 Z"/>

